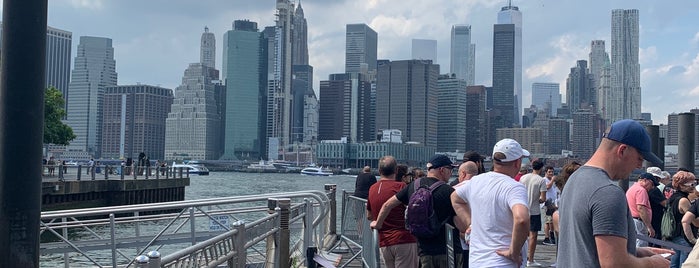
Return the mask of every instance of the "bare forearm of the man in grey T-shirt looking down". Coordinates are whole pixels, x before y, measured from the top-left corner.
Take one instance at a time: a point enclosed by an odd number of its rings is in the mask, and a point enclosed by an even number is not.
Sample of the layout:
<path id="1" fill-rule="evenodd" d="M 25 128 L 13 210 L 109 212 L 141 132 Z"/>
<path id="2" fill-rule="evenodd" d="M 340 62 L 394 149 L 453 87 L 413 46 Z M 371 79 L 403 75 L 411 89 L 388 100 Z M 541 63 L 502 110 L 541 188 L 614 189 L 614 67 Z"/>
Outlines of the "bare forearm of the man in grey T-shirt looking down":
<path id="1" fill-rule="evenodd" d="M 595 236 L 600 267 L 669 267 L 670 260 L 655 254 L 649 257 L 636 257 L 626 252 L 626 238 L 613 235 Z M 654 253 L 645 248 L 642 255 Z"/>

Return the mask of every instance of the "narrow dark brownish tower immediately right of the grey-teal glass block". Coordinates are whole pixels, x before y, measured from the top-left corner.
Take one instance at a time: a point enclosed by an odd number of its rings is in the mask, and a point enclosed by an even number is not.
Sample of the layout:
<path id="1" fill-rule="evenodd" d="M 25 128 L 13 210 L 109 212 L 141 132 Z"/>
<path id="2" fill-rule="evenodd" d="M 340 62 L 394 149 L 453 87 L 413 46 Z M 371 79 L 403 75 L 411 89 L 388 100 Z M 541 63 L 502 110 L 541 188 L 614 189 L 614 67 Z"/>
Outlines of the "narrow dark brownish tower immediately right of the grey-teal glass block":
<path id="1" fill-rule="evenodd" d="M 466 146 L 463 150 L 475 150 L 486 154 L 492 150 L 488 143 L 486 114 L 486 89 L 484 86 L 466 88 Z M 491 147 L 488 149 L 488 147 Z"/>

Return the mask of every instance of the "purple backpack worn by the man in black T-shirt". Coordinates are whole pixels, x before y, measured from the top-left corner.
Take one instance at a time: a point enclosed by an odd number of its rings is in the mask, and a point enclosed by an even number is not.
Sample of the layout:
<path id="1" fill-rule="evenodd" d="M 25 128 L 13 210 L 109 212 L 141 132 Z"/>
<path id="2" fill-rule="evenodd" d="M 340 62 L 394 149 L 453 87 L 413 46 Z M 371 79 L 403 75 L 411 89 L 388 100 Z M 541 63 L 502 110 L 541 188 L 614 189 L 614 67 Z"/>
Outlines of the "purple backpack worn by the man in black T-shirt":
<path id="1" fill-rule="evenodd" d="M 440 234 L 444 222 L 439 221 L 432 207 L 432 192 L 443 184 L 443 181 L 437 181 L 427 187 L 420 186 L 419 178 L 415 180 L 413 187 L 417 189 L 410 196 L 405 210 L 405 226 L 414 236 L 428 238 Z"/>

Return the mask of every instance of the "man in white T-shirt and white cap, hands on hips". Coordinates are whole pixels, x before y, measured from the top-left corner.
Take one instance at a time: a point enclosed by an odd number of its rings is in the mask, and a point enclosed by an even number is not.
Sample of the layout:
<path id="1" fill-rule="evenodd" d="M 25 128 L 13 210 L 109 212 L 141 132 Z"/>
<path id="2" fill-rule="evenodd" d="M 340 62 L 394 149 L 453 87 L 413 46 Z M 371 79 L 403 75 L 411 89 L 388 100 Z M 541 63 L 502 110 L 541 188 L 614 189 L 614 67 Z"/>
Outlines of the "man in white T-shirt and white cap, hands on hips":
<path id="1" fill-rule="evenodd" d="M 470 267 L 524 265 L 527 189 L 512 178 L 526 156 L 529 152 L 517 141 L 499 141 L 493 148 L 493 171 L 473 177 L 451 195 L 457 222 L 463 223 L 460 228 L 471 230 Z"/>

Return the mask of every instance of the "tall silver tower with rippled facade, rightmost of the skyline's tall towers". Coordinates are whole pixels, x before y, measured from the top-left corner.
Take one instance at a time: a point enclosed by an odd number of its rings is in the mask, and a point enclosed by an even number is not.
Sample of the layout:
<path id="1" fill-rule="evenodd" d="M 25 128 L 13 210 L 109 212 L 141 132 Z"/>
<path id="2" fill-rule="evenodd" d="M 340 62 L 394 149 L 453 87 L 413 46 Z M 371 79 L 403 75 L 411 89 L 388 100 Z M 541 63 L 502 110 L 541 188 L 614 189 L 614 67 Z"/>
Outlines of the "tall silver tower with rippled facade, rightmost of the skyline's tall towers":
<path id="1" fill-rule="evenodd" d="M 612 10 L 612 84 L 619 92 L 621 114 L 611 114 L 612 122 L 641 117 L 641 66 L 638 61 L 638 10 Z M 609 124 L 609 123 L 608 123 Z"/>

